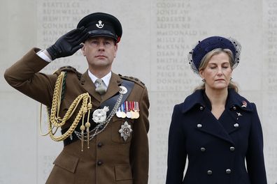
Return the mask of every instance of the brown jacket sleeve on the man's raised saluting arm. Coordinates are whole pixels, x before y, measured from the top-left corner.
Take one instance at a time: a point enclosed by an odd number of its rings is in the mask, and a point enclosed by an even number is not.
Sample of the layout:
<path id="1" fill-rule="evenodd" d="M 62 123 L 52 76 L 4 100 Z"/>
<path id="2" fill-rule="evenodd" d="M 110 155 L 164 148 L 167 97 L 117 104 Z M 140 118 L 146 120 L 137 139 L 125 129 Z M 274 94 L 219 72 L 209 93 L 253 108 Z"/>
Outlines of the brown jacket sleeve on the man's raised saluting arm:
<path id="1" fill-rule="evenodd" d="M 4 77 L 10 86 L 44 105 L 50 106 L 57 75 L 45 75 L 39 71 L 49 63 L 31 49 L 22 59 L 8 68 Z"/>

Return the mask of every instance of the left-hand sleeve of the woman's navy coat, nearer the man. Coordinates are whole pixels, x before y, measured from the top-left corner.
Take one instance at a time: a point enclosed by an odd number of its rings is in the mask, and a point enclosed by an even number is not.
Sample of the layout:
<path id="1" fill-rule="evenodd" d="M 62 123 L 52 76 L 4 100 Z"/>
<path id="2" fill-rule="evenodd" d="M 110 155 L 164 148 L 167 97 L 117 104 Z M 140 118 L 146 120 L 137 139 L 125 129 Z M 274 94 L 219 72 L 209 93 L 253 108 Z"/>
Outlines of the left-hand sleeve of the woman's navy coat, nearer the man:
<path id="1" fill-rule="evenodd" d="M 181 125 L 183 117 L 179 107 L 180 105 L 176 105 L 173 109 L 169 128 L 166 184 L 183 183 L 187 151 L 185 149 L 185 135 Z"/>

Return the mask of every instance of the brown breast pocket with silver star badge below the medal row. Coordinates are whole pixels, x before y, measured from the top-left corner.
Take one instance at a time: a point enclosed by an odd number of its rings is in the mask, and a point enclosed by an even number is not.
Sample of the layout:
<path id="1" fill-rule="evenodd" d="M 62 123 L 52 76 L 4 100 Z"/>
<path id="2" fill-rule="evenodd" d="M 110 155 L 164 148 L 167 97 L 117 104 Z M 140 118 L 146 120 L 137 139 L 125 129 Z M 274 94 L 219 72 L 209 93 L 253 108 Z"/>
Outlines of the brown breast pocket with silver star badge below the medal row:
<path id="1" fill-rule="evenodd" d="M 112 141 L 119 144 L 127 144 L 133 135 L 134 119 L 113 118 L 112 122 Z"/>

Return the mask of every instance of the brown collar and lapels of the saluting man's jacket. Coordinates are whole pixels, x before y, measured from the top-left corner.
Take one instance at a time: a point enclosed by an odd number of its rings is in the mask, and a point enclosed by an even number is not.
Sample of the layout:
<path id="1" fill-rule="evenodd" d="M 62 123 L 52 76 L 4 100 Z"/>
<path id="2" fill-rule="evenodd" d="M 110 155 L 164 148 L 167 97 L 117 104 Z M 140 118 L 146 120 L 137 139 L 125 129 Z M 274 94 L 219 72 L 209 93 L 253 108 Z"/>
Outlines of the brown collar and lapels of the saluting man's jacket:
<path id="1" fill-rule="evenodd" d="M 108 84 L 108 89 L 106 93 L 102 96 L 95 91 L 95 85 L 93 84 L 92 79 L 90 79 L 90 76 L 88 75 L 88 70 L 80 78 L 80 83 L 85 89 L 85 91 L 90 93 L 90 95 L 92 95 L 95 99 L 97 99 L 99 102 L 104 102 L 105 100 L 108 100 L 108 98 L 111 98 L 113 95 L 118 93 L 118 91 L 120 90 L 119 86 L 122 83 L 122 79 L 119 75 L 112 72 L 111 80 Z"/>

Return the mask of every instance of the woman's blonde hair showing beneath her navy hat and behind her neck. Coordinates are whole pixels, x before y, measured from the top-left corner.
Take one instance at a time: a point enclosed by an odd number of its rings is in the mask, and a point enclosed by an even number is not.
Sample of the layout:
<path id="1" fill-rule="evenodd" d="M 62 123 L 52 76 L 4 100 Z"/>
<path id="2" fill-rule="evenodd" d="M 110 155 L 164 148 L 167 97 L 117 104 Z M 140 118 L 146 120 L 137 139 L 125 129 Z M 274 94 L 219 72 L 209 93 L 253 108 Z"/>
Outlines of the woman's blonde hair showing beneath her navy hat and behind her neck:
<path id="1" fill-rule="evenodd" d="M 208 61 L 211 60 L 211 57 L 214 56 L 215 54 L 220 54 L 221 52 L 225 52 L 228 56 L 229 56 L 229 63 L 230 66 L 233 70 L 234 67 L 234 56 L 233 53 L 230 49 L 213 49 L 211 52 L 208 52 L 202 59 L 201 59 L 201 63 L 199 66 L 199 71 L 204 70 L 207 66 L 208 66 Z M 230 80 L 229 85 L 228 85 L 229 89 L 234 89 L 234 91 L 238 92 L 238 86 L 236 85 L 236 83 L 232 82 Z M 197 91 L 198 89 L 205 89 L 205 84 L 201 84 L 200 86 L 197 86 L 194 91 Z"/>

